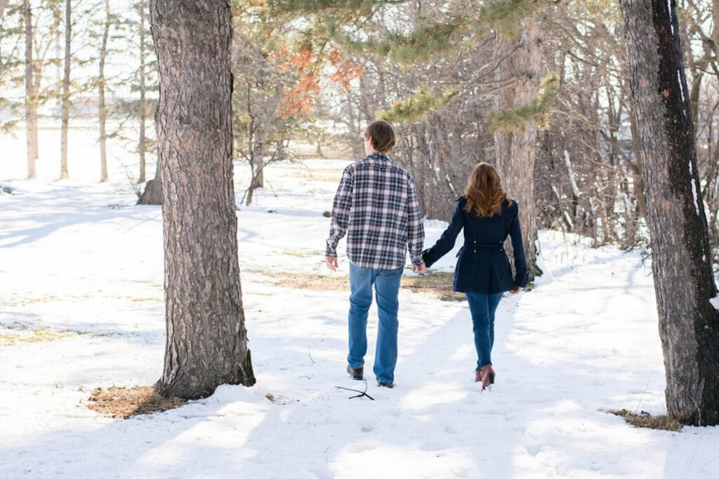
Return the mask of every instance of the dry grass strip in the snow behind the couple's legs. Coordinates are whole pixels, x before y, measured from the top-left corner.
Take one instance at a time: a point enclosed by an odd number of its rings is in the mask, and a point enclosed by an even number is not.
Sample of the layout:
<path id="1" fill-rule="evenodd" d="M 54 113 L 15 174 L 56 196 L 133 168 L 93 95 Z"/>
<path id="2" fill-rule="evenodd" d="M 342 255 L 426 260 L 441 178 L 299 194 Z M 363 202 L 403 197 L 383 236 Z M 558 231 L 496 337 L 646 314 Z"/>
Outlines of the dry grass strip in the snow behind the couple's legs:
<path id="1" fill-rule="evenodd" d="M 347 276 L 321 276 L 310 273 L 285 271 L 252 271 L 267 276 L 275 286 L 310 291 L 349 291 Z M 446 272 L 428 273 L 424 276 L 403 276 L 402 289 L 424 294 L 434 294 L 442 301 L 464 301 L 464 294 L 452 291 L 454 275 Z"/>

